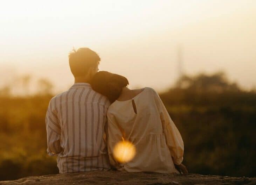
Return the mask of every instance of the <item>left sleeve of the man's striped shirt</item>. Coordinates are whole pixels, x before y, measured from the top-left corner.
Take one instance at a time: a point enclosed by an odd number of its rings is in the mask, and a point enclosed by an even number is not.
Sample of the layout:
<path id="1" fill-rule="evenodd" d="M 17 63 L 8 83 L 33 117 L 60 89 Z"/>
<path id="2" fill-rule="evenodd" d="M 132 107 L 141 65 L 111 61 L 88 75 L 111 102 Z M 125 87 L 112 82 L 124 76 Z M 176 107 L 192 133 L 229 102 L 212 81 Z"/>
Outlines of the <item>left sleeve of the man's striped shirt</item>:
<path id="1" fill-rule="evenodd" d="M 61 127 L 58 122 L 56 99 L 51 99 L 46 113 L 46 132 L 47 132 L 47 153 L 50 156 L 58 155 L 61 151 L 60 138 Z"/>

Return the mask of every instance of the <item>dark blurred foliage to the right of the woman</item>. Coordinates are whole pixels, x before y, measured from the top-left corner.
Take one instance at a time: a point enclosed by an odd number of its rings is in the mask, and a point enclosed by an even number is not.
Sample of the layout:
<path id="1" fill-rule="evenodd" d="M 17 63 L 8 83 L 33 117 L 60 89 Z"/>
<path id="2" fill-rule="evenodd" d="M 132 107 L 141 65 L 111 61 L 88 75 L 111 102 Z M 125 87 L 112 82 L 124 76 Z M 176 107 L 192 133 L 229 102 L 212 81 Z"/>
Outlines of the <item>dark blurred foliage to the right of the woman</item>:
<path id="1" fill-rule="evenodd" d="M 256 175 L 254 91 L 241 90 L 217 72 L 183 76 L 160 97 L 184 139 L 190 172 Z"/>

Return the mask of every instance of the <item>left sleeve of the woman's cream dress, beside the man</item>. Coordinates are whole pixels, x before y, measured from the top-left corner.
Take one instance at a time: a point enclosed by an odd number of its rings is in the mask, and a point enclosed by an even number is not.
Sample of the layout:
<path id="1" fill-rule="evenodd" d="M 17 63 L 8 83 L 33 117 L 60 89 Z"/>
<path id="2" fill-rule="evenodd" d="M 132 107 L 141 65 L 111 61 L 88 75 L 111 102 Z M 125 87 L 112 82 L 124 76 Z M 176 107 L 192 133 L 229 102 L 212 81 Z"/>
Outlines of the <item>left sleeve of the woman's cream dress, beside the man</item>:
<path id="1" fill-rule="evenodd" d="M 122 141 L 122 133 L 118 129 L 116 124 L 116 119 L 113 115 L 107 114 L 108 117 L 108 153 L 109 153 L 109 162 L 116 169 L 122 168 L 122 164 L 118 163 L 113 156 L 113 149 L 115 145 Z"/>

